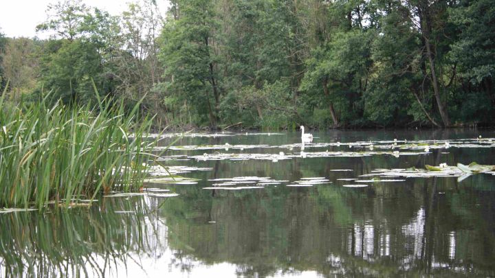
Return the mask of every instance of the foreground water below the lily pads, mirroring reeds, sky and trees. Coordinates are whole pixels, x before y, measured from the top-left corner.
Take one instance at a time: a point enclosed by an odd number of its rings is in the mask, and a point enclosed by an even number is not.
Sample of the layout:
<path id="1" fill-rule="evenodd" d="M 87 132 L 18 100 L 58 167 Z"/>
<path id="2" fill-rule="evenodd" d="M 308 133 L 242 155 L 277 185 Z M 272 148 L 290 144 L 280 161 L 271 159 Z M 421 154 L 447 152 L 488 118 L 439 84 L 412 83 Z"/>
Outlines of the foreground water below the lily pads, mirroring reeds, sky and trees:
<path id="1" fill-rule="evenodd" d="M 203 266 L 261 277 L 490 276 L 495 194 L 476 187 L 483 178 L 462 187 L 454 179 L 417 179 L 400 190 L 320 185 L 214 196 L 177 187 L 187 196 L 4 214 L 1 276 L 173 276 Z"/>

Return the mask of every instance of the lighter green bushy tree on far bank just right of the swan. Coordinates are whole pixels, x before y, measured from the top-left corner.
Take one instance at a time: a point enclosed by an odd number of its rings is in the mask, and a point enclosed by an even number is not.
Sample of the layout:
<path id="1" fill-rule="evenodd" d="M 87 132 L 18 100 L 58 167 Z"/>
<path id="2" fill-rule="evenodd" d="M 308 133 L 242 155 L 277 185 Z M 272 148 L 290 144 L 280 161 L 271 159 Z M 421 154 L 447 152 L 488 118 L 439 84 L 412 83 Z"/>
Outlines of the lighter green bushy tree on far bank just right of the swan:
<path id="1" fill-rule="evenodd" d="M 327 107 L 333 126 L 361 125 L 363 95 L 373 65 L 370 46 L 376 32 L 370 26 L 363 26 L 364 8 L 360 2 L 335 1 L 327 3 L 325 8 L 329 17 L 325 25 L 320 23 L 322 27 L 317 34 L 326 34 L 320 35 L 318 47 L 313 47 L 306 60 L 307 72 L 301 89 L 315 106 Z"/>

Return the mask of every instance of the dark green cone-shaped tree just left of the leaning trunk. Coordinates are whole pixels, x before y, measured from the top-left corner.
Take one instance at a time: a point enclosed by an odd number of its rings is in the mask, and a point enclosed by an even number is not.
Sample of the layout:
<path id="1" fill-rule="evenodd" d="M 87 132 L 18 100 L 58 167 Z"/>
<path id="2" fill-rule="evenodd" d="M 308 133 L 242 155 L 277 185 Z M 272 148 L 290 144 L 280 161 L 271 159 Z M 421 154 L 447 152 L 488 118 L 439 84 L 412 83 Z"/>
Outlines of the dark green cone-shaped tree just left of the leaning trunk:
<path id="1" fill-rule="evenodd" d="M 421 36 L 402 3 L 382 3 L 380 29 L 372 46 L 373 69 L 365 95 L 365 115 L 384 125 L 406 121 L 440 126 L 428 111 L 432 101 L 426 82 Z M 412 116 L 412 119 L 411 119 Z"/>

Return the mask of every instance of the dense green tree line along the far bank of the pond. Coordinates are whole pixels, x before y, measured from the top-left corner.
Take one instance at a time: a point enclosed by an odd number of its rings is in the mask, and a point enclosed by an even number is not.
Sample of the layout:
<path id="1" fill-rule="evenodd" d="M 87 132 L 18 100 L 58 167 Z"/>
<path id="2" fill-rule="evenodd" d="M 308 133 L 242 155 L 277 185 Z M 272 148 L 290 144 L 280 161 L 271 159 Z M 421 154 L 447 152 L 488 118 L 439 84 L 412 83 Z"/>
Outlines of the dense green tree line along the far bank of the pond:
<path id="1" fill-rule="evenodd" d="M 113 16 L 47 7 L 39 32 L 0 30 L 12 102 L 144 97 L 163 128 L 493 126 L 492 0 L 155 0 Z M 1 26 L 0 26 L 1 27 Z"/>

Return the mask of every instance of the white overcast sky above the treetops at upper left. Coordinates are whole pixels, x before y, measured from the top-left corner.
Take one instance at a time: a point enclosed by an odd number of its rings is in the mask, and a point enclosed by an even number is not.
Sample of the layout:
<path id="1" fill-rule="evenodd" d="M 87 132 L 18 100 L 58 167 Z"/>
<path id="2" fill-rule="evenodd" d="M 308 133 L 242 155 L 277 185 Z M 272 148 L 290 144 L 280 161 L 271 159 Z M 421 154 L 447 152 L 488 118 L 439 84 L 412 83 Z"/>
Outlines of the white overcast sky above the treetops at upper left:
<path id="1" fill-rule="evenodd" d="M 126 9 L 126 3 L 136 2 L 129 0 L 83 0 L 83 3 L 91 7 L 106 10 L 110 14 L 118 15 Z M 36 34 L 36 25 L 47 19 L 45 13 L 49 3 L 57 3 L 58 0 L 0 0 L 0 32 L 8 37 L 34 37 L 47 38 L 47 32 Z M 168 6 L 167 0 L 157 0 L 162 14 Z"/>

